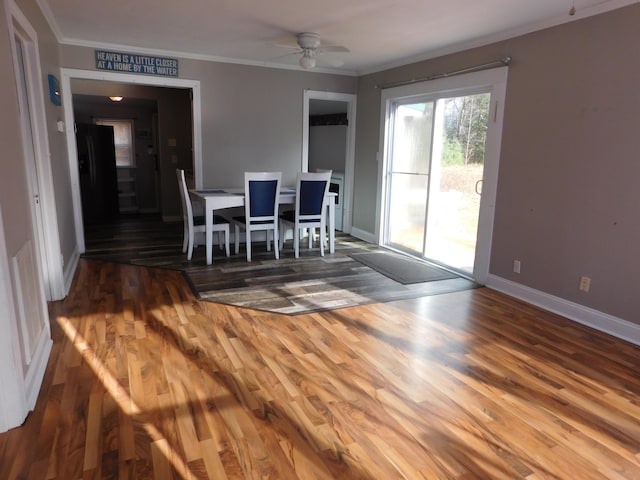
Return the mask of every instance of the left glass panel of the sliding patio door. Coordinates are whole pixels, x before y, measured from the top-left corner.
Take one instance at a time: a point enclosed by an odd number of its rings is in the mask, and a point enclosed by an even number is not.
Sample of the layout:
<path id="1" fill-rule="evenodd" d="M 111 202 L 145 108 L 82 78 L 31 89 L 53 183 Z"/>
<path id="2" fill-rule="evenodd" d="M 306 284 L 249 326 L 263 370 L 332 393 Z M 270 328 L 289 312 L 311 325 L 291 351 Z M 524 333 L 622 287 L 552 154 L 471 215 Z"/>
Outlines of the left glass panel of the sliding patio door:
<path id="1" fill-rule="evenodd" d="M 386 243 L 421 253 L 431 163 L 433 102 L 396 104 L 388 170 Z"/>

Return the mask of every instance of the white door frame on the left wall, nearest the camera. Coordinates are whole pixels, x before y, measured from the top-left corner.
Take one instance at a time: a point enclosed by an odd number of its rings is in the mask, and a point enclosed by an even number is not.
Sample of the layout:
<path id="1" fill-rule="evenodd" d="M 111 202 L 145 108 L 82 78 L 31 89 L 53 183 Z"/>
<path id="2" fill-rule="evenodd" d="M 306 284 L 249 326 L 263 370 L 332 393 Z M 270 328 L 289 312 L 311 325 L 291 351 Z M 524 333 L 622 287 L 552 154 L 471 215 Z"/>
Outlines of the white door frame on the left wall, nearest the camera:
<path id="1" fill-rule="evenodd" d="M 28 111 L 30 125 L 24 125 L 29 119 L 22 118 L 22 130 L 31 128 L 32 139 L 24 138 L 23 150 L 27 162 L 27 179 L 29 181 L 30 196 L 33 200 L 30 208 L 33 216 L 36 249 L 40 258 L 39 267 L 41 282 L 47 300 L 64 298 L 65 282 L 62 266 L 62 251 L 58 231 L 58 214 L 53 187 L 53 173 L 51 170 L 51 151 L 47 131 L 47 115 L 45 99 L 42 93 L 42 72 L 40 69 L 40 53 L 38 50 L 38 36 L 27 18 L 18 6 L 10 0 L 5 2 L 11 50 L 16 70 L 16 86 L 20 110 Z M 19 80 L 21 74 L 18 65 L 15 36 L 18 36 L 24 47 L 24 85 Z M 26 91 L 25 91 L 26 89 Z M 29 99 L 29 105 L 24 105 L 23 98 Z M 31 142 L 32 145 L 27 145 Z"/>

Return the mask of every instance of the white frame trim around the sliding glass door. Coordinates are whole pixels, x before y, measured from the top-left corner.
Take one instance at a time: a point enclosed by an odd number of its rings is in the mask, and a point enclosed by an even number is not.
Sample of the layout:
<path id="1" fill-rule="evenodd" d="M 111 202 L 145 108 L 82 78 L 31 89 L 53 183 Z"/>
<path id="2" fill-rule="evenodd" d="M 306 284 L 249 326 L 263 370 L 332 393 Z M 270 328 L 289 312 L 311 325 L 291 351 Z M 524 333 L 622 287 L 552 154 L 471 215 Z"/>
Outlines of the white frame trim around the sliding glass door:
<path id="1" fill-rule="evenodd" d="M 475 73 L 456 75 L 432 81 L 388 88 L 382 91 L 380 107 L 380 150 L 382 161 L 378 163 L 378 189 L 376 201 L 376 238 L 379 244 L 383 241 L 386 201 L 386 173 L 388 165 L 389 124 L 391 104 L 397 98 L 421 97 L 429 94 L 446 94 L 455 96 L 456 91 L 474 87 L 487 87 L 491 92 L 491 117 L 485 144 L 485 165 L 482 182 L 482 200 L 478 215 L 478 237 L 476 242 L 476 261 L 473 277 L 480 284 L 485 284 L 489 276 L 491 259 L 491 241 L 493 236 L 493 218 L 498 183 L 498 166 L 500 163 L 500 147 L 502 143 L 502 121 L 504 115 L 504 99 L 507 89 L 508 67 L 492 68 Z"/>

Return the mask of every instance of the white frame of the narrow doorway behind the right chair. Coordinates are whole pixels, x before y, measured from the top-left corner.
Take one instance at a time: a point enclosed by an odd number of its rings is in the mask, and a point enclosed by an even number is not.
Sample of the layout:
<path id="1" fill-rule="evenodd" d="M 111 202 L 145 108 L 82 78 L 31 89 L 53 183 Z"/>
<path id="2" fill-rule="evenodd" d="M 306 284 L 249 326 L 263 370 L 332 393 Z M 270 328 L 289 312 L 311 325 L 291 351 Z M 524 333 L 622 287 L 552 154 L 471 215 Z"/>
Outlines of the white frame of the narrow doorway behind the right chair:
<path id="1" fill-rule="evenodd" d="M 305 90 L 302 104 L 302 171 L 309 169 L 309 101 L 331 100 L 347 103 L 347 146 L 344 165 L 342 231 L 351 233 L 353 211 L 353 177 L 356 149 L 356 95 L 351 93 Z"/>

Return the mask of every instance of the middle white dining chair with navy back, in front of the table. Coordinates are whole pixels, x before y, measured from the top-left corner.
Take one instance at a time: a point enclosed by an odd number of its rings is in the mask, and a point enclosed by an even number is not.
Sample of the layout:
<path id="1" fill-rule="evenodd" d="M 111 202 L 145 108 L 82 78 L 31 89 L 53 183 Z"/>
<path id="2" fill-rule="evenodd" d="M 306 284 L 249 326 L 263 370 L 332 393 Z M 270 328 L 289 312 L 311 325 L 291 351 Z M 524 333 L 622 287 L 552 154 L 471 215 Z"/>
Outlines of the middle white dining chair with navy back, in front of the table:
<path id="1" fill-rule="evenodd" d="M 264 230 L 267 251 L 271 250 L 269 232 L 273 232 L 273 249 L 278 251 L 278 203 L 282 172 L 245 172 L 244 215 L 232 218 L 235 225 L 235 252 L 240 250 L 240 230 L 245 231 L 247 262 L 251 261 L 251 233 Z"/>

